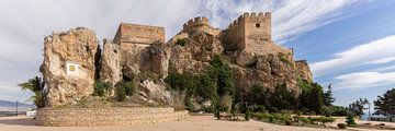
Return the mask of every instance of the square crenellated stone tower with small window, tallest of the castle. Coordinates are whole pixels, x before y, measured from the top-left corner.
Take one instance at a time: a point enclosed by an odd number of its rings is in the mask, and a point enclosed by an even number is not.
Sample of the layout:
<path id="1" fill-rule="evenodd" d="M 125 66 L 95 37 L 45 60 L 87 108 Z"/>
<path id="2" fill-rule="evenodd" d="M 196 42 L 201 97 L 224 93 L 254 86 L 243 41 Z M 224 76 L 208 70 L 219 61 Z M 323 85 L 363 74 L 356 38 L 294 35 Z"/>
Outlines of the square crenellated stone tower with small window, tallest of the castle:
<path id="1" fill-rule="evenodd" d="M 244 13 L 222 34 L 226 50 L 261 51 L 272 44 L 271 13 Z"/>

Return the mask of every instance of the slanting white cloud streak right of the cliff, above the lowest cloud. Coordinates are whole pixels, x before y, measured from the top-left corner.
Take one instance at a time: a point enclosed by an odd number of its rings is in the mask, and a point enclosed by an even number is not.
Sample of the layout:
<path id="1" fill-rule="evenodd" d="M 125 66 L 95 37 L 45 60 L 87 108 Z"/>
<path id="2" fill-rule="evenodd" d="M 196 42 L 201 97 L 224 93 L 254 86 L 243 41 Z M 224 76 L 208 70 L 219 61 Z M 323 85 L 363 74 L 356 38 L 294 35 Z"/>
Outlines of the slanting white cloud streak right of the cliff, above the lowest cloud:
<path id="1" fill-rule="evenodd" d="M 391 62 L 394 60 L 394 49 L 395 35 L 336 53 L 334 59 L 313 63 L 312 70 L 316 76 L 320 76 L 357 66 Z"/>

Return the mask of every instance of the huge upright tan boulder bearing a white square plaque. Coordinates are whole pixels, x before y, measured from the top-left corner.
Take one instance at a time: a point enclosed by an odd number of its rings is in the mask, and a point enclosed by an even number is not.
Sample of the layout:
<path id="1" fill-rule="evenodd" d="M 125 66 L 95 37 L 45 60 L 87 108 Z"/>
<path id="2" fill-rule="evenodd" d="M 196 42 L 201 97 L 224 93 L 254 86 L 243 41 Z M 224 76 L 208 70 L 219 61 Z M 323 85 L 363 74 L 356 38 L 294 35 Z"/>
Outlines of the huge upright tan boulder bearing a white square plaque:
<path id="1" fill-rule="evenodd" d="M 100 57 L 95 33 L 78 27 L 44 40 L 41 72 L 47 85 L 46 106 L 72 104 L 91 95 Z"/>

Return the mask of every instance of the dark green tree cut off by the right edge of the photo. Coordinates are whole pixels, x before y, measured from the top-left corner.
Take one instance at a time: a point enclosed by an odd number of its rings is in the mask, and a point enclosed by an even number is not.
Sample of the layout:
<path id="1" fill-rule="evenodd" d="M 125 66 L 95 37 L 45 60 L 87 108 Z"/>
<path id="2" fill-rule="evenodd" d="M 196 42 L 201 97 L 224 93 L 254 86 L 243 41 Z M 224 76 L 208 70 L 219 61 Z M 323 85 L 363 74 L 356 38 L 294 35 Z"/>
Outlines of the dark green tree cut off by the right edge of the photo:
<path id="1" fill-rule="evenodd" d="M 376 110 L 374 115 L 395 115 L 395 88 L 388 90 L 383 94 L 383 96 L 377 96 L 377 99 L 373 102 L 374 109 Z"/>

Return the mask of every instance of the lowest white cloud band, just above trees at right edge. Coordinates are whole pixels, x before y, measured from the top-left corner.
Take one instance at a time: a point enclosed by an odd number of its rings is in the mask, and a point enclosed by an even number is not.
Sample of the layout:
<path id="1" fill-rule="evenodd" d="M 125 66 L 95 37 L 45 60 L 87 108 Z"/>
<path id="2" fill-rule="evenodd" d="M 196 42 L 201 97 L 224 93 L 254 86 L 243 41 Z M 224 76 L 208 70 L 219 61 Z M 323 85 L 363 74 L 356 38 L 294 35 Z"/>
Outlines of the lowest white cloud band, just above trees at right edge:
<path id="1" fill-rule="evenodd" d="M 395 72 L 357 72 L 335 78 L 336 90 L 352 90 L 364 87 L 380 87 L 395 84 Z"/>

